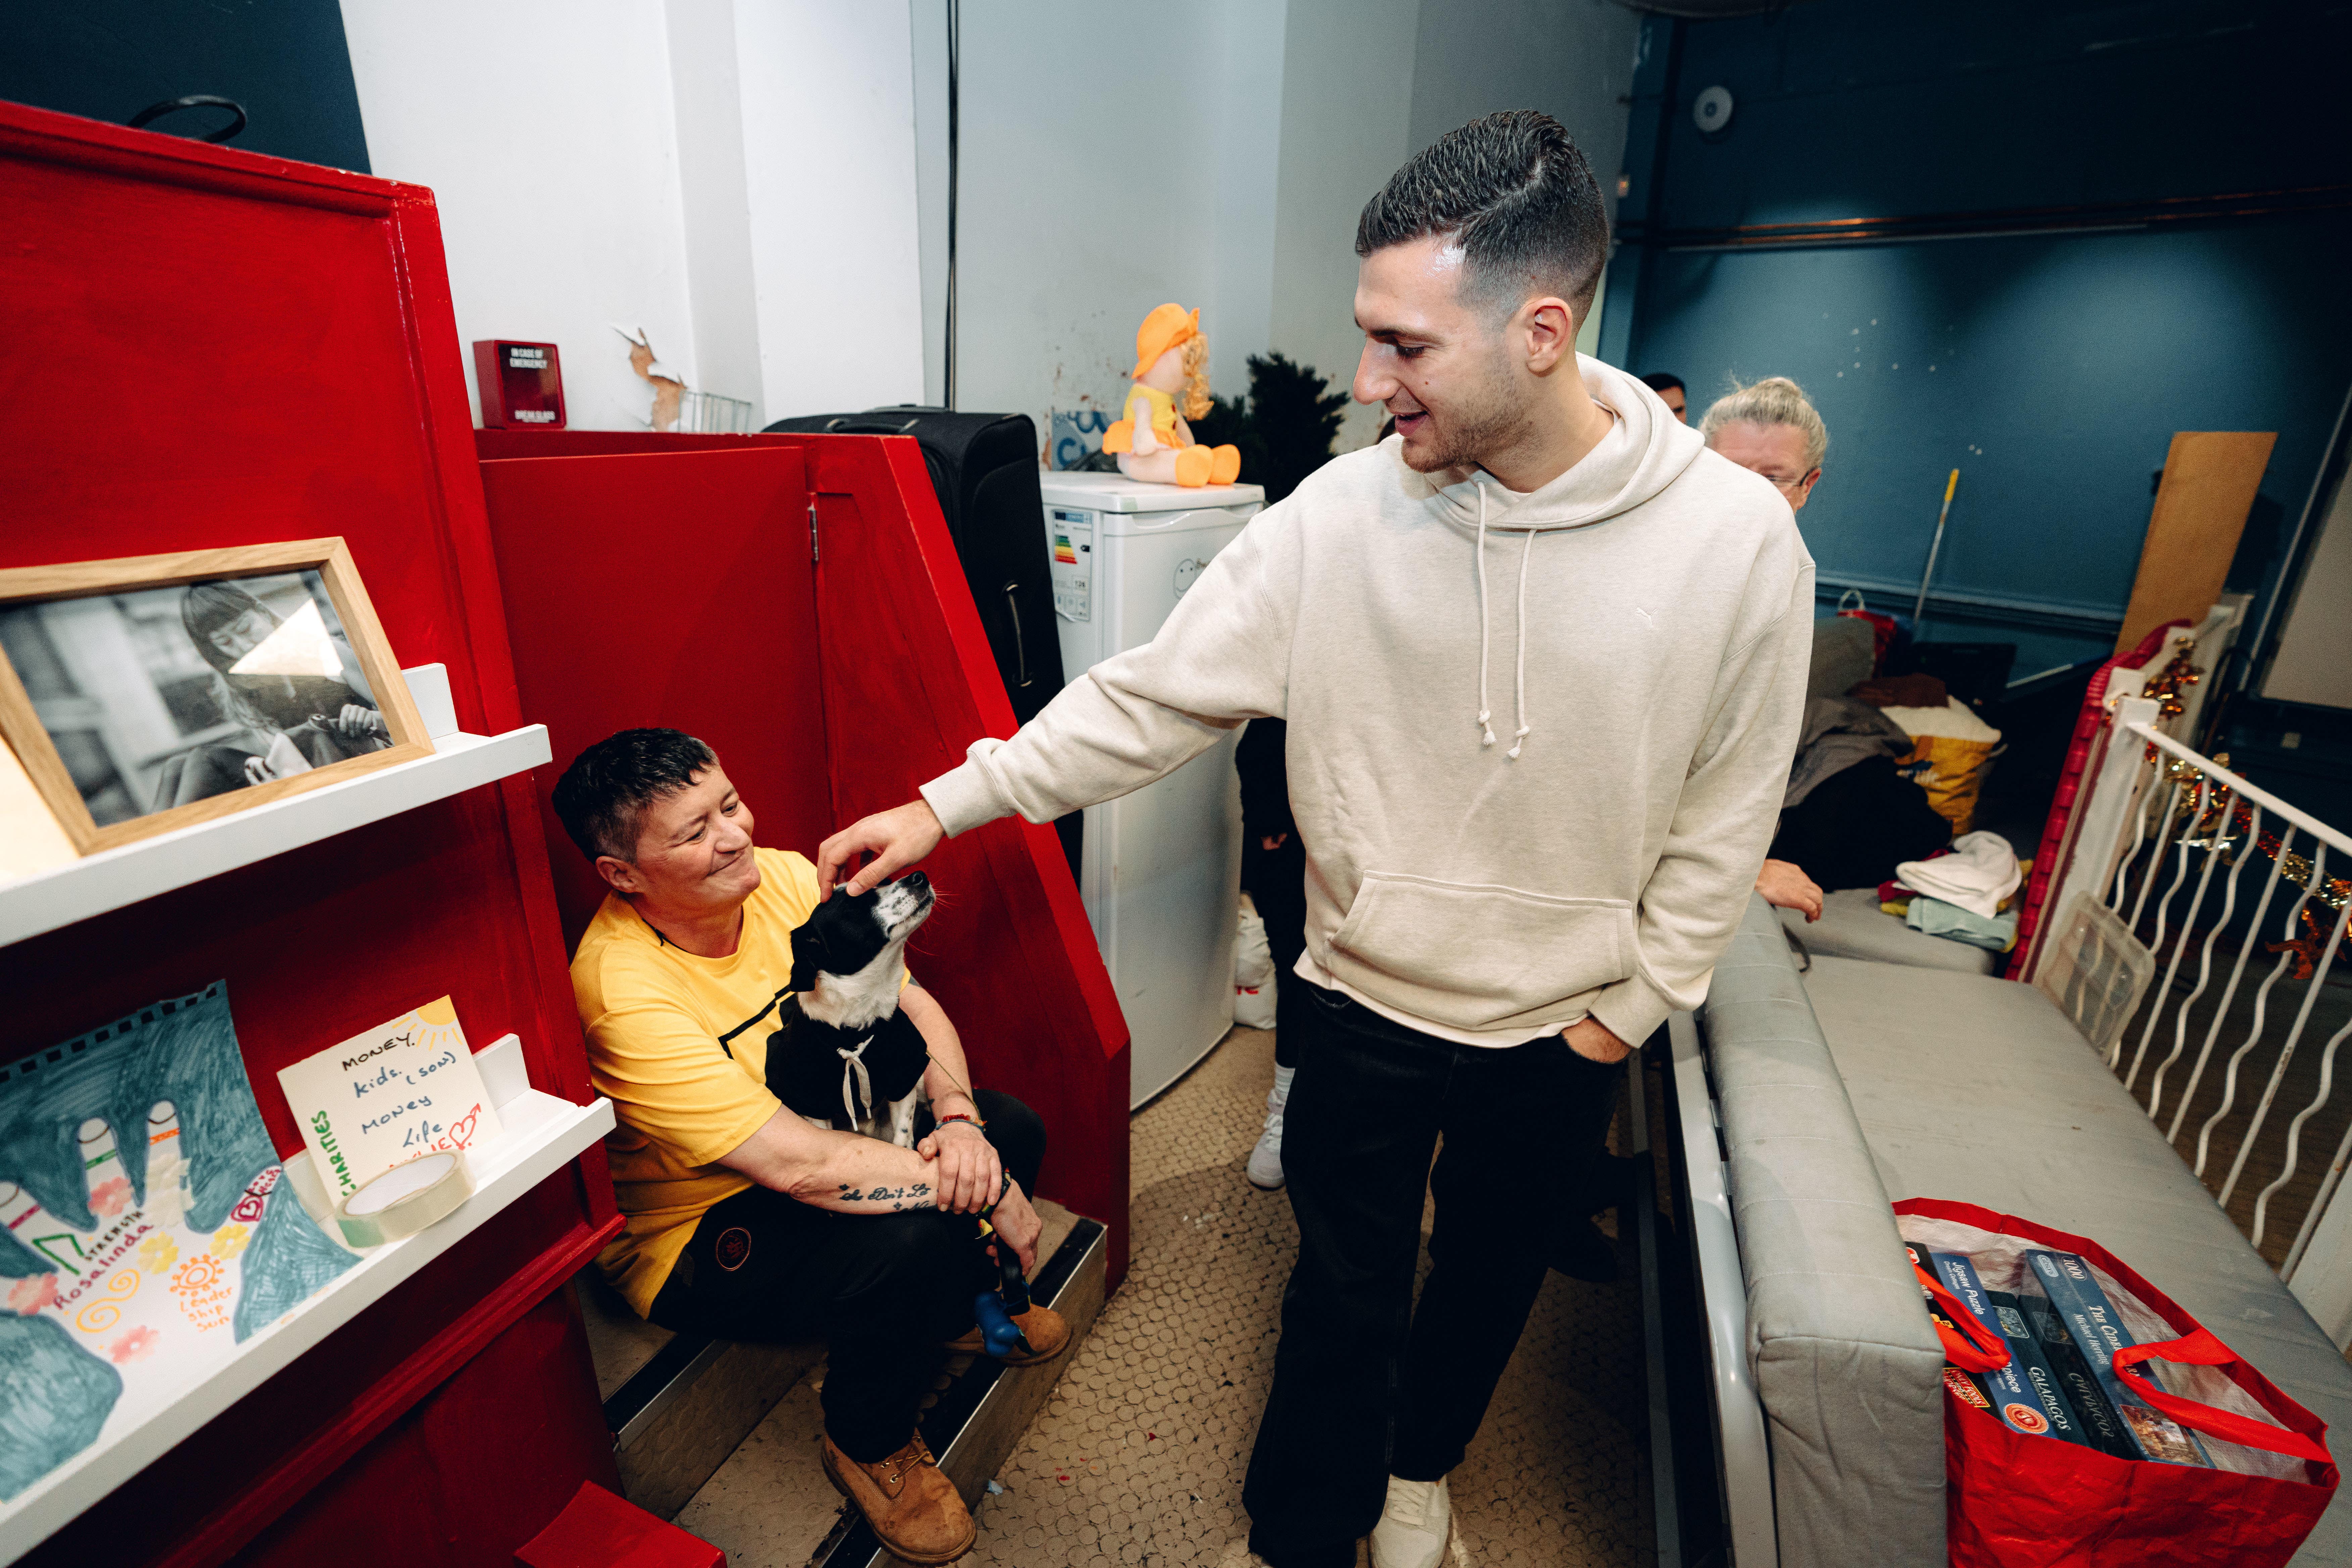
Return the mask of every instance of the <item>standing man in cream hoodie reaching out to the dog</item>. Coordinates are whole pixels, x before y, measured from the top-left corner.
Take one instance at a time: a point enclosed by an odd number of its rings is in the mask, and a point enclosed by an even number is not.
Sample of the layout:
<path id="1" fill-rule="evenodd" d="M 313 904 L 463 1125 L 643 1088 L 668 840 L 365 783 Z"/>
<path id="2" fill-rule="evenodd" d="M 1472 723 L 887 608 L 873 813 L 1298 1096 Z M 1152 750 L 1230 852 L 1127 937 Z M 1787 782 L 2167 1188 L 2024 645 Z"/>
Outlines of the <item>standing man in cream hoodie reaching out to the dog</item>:
<path id="1" fill-rule="evenodd" d="M 1397 435 L 1254 517 L 1150 646 L 818 851 L 863 891 L 941 835 L 1044 823 L 1289 719 L 1315 1030 L 1244 1486 L 1275 1568 L 1352 1563 L 1367 1530 L 1381 1568 L 1442 1559 L 1444 1476 L 1599 1150 L 1611 1063 L 1705 997 L 1788 783 L 1813 562 L 1764 480 L 1576 355 L 1606 249 L 1550 118 L 1418 153 L 1357 226 L 1355 397 Z"/>

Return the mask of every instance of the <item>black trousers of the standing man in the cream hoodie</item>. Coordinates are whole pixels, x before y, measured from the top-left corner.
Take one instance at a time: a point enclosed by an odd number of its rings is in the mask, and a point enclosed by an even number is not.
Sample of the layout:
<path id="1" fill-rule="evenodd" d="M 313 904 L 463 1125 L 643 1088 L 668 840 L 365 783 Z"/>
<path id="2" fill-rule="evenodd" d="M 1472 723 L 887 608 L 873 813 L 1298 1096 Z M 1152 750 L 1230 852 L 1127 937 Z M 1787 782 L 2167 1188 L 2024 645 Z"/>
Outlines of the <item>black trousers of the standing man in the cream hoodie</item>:
<path id="1" fill-rule="evenodd" d="M 1249 1547 L 1275 1568 L 1345 1568 L 1388 1476 L 1463 1460 L 1550 1267 L 1623 1067 L 1550 1034 L 1456 1046 L 1298 980 L 1310 1027 L 1282 1171 L 1298 1267 L 1249 1455 Z M 1444 1138 L 1437 1171 L 1430 1152 Z M 1432 1272 L 1414 1307 L 1423 1182 Z"/>

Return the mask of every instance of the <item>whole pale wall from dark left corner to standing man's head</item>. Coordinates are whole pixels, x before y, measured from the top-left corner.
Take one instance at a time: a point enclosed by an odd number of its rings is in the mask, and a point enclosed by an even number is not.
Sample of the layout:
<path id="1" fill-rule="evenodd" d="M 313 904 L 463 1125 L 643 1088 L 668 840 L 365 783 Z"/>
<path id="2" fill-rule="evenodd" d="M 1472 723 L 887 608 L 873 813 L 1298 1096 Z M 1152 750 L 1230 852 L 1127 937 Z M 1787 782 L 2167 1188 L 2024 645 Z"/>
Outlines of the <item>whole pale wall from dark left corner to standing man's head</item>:
<path id="1" fill-rule="evenodd" d="M 762 423 L 938 400 L 946 0 L 343 21 L 379 172 L 440 195 L 459 334 L 557 343 L 576 428 L 644 423 L 614 320 Z M 1268 348 L 1345 386 L 1364 200 L 1503 106 L 1555 113 L 1611 179 L 1632 35 L 1606 0 L 974 0 L 957 404 L 1040 435 L 1115 404 L 1169 299 L 1202 308 L 1225 395 Z M 1376 423 L 1352 411 L 1341 444 Z"/>

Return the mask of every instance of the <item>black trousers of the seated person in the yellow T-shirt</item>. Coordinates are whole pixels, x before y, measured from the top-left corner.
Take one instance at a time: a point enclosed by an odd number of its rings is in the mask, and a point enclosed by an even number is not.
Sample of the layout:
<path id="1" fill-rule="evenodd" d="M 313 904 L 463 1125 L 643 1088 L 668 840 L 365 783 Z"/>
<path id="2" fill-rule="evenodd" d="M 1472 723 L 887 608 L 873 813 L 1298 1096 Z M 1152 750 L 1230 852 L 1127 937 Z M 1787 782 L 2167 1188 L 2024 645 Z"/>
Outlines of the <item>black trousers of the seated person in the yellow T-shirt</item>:
<path id="1" fill-rule="evenodd" d="M 974 1098 L 1004 1168 L 1035 1192 L 1037 1112 L 988 1088 Z M 929 1131 L 922 1112 L 917 1140 Z M 753 1187 L 703 1213 L 649 1316 L 720 1340 L 823 1335 L 826 1434 L 873 1465 L 915 1432 L 941 1345 L 971 1328 L 971 1300 L 993 1284 L 969 1213 L 835 1213 Z"/>

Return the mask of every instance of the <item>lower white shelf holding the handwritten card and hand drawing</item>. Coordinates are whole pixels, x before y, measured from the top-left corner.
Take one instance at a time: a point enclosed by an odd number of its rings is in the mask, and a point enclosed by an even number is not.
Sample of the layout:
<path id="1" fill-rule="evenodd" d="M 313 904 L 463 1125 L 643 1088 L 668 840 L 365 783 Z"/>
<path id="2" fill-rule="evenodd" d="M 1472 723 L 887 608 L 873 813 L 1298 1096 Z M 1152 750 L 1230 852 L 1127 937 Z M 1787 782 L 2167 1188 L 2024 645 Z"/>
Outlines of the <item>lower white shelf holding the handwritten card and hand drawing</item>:
<path id="1" fill-rule="evenodd" d="M 543 750 L 546 741 L 541 741 Z M 318 1295 L 249 1338 L 230 1361 L 160 1413 L 120 1434 L 101 1436 L 26 1488 L 14 1505 L 0 1507 L 0 1566 L 14 1563 L 176 1443 L 200 1432 L 205 1422 L 282 1373 L 306 1349 L 313 1349 L 336 1328 L 383 1300 L 393 1286 L 423 1269 L 489 1222 L 501 1208 L 579 1159 L 588 1145 L 614 1126 L 612 1100 L 572 1105 L 569 1100 L 527 1088 L 522 1041 L 513 1034 L 480 1051 L 475 1063 L 482 1070 L 482 1086 L 489 1091 L 489 1098 L 499 1100 L 501 1093 L 506 1098 L 499 1103 L 503 1131 L 496 1143 L 477 1145 L 466 1154 L 466 1168 L 473 1175 L 473 1197 L 437 1225 L 360 1253 L 355 1267 L 343 1269 Z M 287 1161 L 289 1180 L 280 1187 L 278 1201 L 299 1201 L 296 1190 L 308 1175 L 306 1171 L 296 1171 L 299 1164 L 308 1164 L 308 1154 L 296 1154 Z"/>

